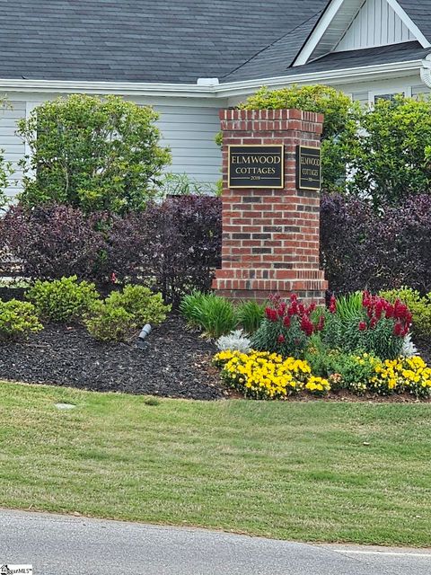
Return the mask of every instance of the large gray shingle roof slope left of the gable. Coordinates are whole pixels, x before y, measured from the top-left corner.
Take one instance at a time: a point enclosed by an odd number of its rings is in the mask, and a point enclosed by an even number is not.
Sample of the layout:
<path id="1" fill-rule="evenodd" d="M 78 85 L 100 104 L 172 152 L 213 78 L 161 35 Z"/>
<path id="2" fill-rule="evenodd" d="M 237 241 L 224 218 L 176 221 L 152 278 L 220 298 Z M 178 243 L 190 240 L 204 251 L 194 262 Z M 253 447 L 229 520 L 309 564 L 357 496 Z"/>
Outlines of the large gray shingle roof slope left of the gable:
<path id="1" fill-rule="evenodd" d="M 0 77 L 168 83 L 223 78 L 326 4 L 0 0 Z M 289 54 L 303 38 L 296 41 L 286 48 Z"/>

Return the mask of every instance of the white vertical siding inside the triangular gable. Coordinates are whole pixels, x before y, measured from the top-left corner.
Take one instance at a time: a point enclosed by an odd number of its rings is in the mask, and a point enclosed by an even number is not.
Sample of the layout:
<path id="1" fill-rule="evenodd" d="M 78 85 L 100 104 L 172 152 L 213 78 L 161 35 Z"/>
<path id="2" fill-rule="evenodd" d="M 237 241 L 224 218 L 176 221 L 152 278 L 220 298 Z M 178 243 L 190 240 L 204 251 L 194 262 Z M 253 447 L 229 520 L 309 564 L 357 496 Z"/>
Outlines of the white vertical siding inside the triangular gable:
<path id="1" fill-rule="evenodd" d="M 416 40 L 386 0 L 366 0 L 335 52 Z"/>

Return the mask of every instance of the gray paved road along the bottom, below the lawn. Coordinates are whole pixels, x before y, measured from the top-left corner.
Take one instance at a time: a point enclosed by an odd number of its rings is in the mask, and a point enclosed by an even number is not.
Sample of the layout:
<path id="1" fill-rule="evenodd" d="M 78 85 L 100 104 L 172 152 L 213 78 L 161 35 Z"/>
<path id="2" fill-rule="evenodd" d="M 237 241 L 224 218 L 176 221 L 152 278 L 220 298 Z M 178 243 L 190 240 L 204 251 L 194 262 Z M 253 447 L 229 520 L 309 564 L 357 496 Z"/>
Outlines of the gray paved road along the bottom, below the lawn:
<path id="1" fill-rule="evenodd" d="M 0 509 L 0 564 L 34 575 L 429 575 L 431 550 L 273 541 Z"/>

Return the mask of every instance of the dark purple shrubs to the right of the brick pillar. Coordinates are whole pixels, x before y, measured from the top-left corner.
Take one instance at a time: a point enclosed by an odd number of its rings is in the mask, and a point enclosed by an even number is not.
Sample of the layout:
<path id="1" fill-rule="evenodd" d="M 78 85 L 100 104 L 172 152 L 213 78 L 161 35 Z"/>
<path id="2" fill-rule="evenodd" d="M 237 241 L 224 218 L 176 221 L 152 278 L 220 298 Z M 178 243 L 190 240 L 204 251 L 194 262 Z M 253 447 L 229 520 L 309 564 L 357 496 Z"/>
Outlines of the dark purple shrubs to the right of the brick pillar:
<path id="1" fill-rule="evenodd" d="M 402 286 L 431 291 L 431 196 L 375 211 L 363 199 L 323 195 L 321 266 L 338 293 Z"/>

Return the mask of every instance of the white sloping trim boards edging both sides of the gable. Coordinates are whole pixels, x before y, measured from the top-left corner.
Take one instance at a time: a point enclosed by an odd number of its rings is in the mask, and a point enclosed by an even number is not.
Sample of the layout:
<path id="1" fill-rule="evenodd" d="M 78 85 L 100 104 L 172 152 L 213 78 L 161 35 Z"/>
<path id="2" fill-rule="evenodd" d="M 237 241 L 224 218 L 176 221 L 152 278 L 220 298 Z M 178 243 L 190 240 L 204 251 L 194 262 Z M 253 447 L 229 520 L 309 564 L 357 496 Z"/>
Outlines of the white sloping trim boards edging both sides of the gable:
<path id="1" fill-rule="evenodd" d="M 431 46 L 430 42 L 401 8 L 397 0 L 385 1 L 400 18 L 400 21 L 409 29 L 411 35 L 418 40 L 422 48 L 429 48 Z M 331 0 L 325 12 L 322 13 L 321 19 L 314 27 L 312 34 L 295 58 L 293 66 L 303 66 L 310 59 L 321 57 L 335 49 L 364 4 L 364 0 Z M 375 25 L 380 24 L 381 22 L 376 22 Z"/>

